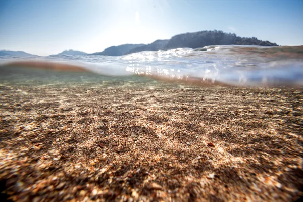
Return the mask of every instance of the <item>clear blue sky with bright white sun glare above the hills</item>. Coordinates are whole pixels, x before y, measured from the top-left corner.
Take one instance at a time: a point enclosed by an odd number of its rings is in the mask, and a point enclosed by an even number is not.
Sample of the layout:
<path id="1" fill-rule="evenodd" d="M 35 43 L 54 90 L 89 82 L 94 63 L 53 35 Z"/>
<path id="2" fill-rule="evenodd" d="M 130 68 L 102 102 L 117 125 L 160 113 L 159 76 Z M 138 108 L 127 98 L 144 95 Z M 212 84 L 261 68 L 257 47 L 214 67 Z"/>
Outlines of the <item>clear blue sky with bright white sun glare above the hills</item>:
<path id="1" fill-rule="evenodd" d="M 0 49 L 101 52 L 203 30 L 303 45 L 302 0 L 0 0 Z"/>

